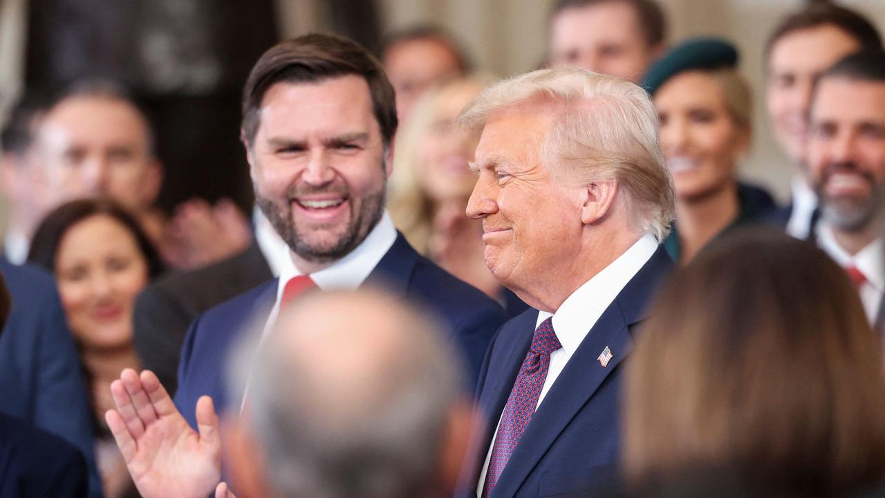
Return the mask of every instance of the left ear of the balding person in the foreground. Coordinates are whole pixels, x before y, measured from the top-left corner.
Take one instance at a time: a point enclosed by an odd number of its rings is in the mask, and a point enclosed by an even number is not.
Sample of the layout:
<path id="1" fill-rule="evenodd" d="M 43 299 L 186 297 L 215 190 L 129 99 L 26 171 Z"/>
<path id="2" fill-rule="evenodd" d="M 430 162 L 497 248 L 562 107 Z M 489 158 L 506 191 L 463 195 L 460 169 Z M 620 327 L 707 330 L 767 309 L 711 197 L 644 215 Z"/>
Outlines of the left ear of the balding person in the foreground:
<path id="1" fill-rule="evenodd" d="M 265 459 L 246 427 L 245 418 L 225 416 L 220 434 L 224 454 L 230 463 L 230 487 L 237 498 L 267 496 Z"/>

